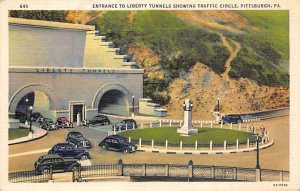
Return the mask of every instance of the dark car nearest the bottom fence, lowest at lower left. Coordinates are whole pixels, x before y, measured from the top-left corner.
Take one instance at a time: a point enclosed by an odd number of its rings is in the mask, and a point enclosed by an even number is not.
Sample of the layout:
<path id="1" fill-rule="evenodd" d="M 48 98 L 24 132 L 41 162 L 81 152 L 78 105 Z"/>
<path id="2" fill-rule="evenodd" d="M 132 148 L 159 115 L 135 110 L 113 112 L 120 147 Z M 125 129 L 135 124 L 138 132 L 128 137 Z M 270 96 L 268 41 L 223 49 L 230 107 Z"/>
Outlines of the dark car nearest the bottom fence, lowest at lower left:
<path id="1" fill-rule="evenodd" d="M 77 159 L 67 159 L 55 154 L 43 155 L 34 163 L 34 169 L 41 174 L 50 173 L 50 169 L 53 172 L 72 171 L 78 169 L 79 166 Z"/>

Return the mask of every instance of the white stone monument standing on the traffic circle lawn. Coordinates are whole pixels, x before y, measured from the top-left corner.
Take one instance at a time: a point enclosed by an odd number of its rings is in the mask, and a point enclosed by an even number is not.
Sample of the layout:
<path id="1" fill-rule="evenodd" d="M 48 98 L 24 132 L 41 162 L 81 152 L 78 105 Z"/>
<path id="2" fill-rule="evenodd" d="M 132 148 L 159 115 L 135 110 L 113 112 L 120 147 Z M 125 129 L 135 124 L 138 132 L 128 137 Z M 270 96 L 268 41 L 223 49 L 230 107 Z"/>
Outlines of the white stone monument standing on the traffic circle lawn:
<path id="1" fill-rule="evenodd" d="M 191 135 L 198 133 L 198 129 L 194 129 L 192 126 L 192 109 L 193 103 L 191 102 L 191 100 L 186 99 L 183 104 L 183 126 L 180 129 L 177 129 L 177 133 L 180 133 L 182 135 Z"/>

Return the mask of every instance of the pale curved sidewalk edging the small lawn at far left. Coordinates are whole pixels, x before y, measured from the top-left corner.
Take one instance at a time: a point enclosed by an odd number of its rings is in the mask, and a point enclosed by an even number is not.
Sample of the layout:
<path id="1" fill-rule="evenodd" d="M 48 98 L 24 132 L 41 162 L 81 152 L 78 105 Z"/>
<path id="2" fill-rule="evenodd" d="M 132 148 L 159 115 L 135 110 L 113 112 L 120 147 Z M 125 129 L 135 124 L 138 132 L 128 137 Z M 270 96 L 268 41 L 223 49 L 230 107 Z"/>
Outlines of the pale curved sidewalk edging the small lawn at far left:
<path id="1" fill-rule="evenodd" d="M 20 127 L 29 129 L 29 125 L 25 125 L 25 124 L 20 124 Z M 18 138 L 18 139 L 9 140 L 8 145 L 33 141 L 33 140 L 39 139 L 41 137 L 44 137 L 48 134 L 48 131 L 46 131 L 44 129 L 41 129 L 39 127 L 31 126 L 31 128 L 33 130 L 33 133 L 29 133 L 29 135 L 26 136 L 26 137 L 21 137 L 21 138 Z"/>

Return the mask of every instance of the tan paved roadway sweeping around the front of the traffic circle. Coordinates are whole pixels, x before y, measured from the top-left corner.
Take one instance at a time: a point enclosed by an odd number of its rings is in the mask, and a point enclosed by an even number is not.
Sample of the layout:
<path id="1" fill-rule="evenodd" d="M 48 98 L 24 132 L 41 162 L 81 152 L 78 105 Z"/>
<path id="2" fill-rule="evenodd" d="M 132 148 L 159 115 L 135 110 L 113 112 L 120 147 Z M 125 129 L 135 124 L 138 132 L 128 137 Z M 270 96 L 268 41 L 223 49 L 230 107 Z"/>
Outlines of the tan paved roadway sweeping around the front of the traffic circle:
<path id="1" fill-rule="evenodd" d="M 270 169 L 289 170 L 289 118 L 282 117 L 272 120 L 253 123 L 260 127 L 264 125 L 269 129 L 275 144 L 267 149 L 261 150 L 261 167 Z M 106 130 L 110 127 L 76 127 L 75 129 L 62 129 L 50 132 L 46 137 L 39 140 L 9 146 L 9 155 L 24 152 L 36 152 L 52 147 L 58 142 L 64 142 L 69 131 L 80 131 L 89 138 L 94 145 L 89 150 L 93 164 L 116 163 L 123 159 L 125 163 L 169 163 L 187 164 L 193 160 L 194 164 L 224 165 L 253 168 L 256 165 L 256 153 L 237 153 L 223 155 L 172 155 L 159 153 L 137 152 L 123 154 L 121 152 L 103 151 L 98 148 L 98 143 L 106 136 Z M 43 151 L 43 150 L 42 150 Z M 9 171 L 33 170 L 33 163 L 45 153 L 38 152 L 30 155 L 9 157 Z"/>

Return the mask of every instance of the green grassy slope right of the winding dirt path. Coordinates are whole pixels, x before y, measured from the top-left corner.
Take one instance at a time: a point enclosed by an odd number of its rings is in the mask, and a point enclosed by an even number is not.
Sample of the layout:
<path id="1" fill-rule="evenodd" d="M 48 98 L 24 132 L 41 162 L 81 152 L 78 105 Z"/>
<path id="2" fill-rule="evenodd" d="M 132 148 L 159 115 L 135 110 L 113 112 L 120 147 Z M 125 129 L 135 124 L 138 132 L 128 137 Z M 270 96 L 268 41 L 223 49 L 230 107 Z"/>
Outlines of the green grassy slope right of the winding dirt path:
<path id="1" fill-rule="evenodd" d="M 242 43 L 232 62 L 231 77 L 246 77 L 260 85 L 289 86 L 288 11 L 239 11 L 259 31 L 234 36 Z"/>

